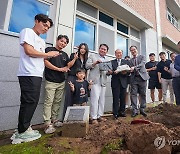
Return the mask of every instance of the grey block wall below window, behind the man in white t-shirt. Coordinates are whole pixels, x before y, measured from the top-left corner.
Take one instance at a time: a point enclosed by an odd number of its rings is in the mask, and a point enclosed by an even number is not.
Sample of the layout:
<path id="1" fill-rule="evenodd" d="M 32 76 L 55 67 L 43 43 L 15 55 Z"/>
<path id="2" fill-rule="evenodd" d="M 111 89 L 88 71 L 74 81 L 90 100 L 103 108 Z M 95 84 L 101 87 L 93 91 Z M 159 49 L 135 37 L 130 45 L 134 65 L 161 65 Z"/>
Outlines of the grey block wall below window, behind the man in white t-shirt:
<path id="1" fill-rule="evenodd" d="M 47 44 L 47 46 L 50 46 Z M 19 37 L 0 33 L 0 131 L 17 127 L 20 88 L 17 78 L 19 66 Z M 40 100 L 32 124 L 43 122 L 44 80 Z"/>

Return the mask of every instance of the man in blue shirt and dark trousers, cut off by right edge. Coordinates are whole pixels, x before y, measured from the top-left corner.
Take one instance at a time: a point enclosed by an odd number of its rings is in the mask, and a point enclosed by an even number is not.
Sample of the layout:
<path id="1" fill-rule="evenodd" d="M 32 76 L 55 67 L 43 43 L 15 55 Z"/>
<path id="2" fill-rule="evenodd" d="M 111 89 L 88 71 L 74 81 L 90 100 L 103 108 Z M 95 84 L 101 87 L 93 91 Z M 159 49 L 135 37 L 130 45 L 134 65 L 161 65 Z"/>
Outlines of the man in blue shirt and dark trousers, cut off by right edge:
<path id="1" fill-rule="evenodd" d="M 177 46 L 180 50 L 180 41 L 178 42 Z M 180 71 L 180 55 L 176 56 L 175 58 L 174 68 L 177 71 Z M 176 98 L 176 105 L 180 105 L 180 76 L 173 78 L 173 89 Z"/>

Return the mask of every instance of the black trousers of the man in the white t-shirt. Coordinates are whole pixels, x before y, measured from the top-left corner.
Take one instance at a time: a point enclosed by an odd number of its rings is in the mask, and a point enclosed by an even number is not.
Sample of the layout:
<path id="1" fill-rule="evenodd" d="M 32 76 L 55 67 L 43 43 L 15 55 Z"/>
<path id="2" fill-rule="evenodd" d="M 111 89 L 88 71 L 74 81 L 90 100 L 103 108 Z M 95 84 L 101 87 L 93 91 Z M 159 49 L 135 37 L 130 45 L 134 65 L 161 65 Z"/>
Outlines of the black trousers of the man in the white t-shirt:
<path id="1" fill-rule="evenodd" d="M 18 119 L 18 132 L 25 132 L 30 126 L 32 116 L 36 110 L 40 89 L 41 77 L 21 76 L 18 77 L 21 88 L 21 105 Z"/>

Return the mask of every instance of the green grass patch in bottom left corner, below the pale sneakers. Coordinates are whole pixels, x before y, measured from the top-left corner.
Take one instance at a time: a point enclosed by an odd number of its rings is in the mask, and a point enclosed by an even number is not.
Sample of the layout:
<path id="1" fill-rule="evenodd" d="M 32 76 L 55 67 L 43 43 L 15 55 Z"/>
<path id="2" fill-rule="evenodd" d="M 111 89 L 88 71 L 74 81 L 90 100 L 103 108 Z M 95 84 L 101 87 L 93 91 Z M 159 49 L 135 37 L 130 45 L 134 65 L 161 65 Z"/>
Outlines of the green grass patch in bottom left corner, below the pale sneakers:
<path id="1" fill-rule="evenodd" d="M 53 154 L 47 141 L 51 135 L 44 135 L 39 140 L 16 145 L 5 145 L 0 148 L 0 154 Z"/>

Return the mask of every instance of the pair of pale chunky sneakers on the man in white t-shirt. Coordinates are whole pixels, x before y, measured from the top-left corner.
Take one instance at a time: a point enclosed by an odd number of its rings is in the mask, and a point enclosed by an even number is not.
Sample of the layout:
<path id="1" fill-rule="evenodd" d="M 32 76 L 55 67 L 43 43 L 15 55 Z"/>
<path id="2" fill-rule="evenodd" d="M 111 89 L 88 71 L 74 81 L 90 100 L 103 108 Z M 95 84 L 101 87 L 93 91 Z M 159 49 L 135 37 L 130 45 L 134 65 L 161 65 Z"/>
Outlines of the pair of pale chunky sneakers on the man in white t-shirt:
<path id="1" fill-rule="evenodd" d="M 15 132 L 13 136 L 11 137 L 12 139 L 12 144 L 19 144 L 22 142 L 30 142 L 37 140 L 41 137 L 41 134 L 32 130 L 32 129 L 27 129 L 24 133 L 18 133 Z"/>

